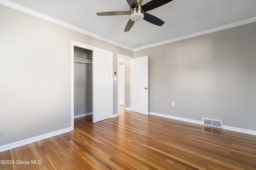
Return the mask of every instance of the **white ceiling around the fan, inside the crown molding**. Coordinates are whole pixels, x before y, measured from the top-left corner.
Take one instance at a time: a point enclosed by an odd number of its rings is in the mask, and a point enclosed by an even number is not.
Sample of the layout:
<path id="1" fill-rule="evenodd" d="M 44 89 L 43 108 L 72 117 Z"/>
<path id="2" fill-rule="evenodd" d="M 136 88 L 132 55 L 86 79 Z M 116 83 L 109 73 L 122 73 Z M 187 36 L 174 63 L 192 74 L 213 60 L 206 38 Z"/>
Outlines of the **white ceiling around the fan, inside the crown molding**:
<path id="1" fill-rule="evenodd" d="M 144 0 L 146 4 L 150 0 Z M 96 12 L 128 11 L 126 0 L 10 0 L 104 39 L 136 49 L 248 19 L 256 21 L 256 0 L 173 0 L 148 11 L 164 25 L 145 20 L 124 32 L 129 15 L 97 16 Z M 136 45 L 136 42 L 140 42 Z"/>

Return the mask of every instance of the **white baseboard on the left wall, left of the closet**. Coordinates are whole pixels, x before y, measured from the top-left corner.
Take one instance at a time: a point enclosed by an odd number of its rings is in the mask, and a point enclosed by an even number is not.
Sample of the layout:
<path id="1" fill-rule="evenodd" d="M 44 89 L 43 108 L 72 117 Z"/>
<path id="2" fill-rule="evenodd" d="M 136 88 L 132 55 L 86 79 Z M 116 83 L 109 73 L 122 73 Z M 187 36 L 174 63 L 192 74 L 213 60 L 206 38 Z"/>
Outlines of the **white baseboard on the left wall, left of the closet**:
<path id="1" fill-rule="evenodd" d="M 32 138 L 29 138 L 29 139 L 24 139 L 22 141 L 17 141 L 17 142 L 10 143 L 10 144 L 7 144 L 7 145 L 2 145 L 2 146 L 0 146 L 0 152 L 6 151 L 6 150 L 9 150 L 9 149 L 14 149 L 16 147 L 27 145 L 27 144 L 30 144 L 30 143 L 33 143 L 33 142 L 37 142 L 37 141 L 46 139 L 46 138 L 54 137 L 56 135 L 60 135 L 62 133 L 70 132 L 72 130 L 74 130 L 74 129 L 72 129 L 72 127 L 68 127 L 66 129 L 61 129 L 61 130 L 58 130 L 58 131 L 46 133 L 44 135 L 39 135 L 39 136 L 32 137 Z"/>

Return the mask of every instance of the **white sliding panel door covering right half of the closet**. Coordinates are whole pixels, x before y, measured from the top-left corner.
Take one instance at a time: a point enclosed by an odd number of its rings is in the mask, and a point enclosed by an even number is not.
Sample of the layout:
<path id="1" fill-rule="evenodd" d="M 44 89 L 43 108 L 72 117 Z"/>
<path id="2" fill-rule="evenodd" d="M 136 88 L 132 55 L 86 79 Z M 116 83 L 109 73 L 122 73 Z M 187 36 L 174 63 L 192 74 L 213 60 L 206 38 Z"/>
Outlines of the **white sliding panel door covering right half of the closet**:
<path id="1" fill-rule="evenodd" d="M 96 123 L 112 116 L 112 56 L 93 51 L 93 115 Z"/>

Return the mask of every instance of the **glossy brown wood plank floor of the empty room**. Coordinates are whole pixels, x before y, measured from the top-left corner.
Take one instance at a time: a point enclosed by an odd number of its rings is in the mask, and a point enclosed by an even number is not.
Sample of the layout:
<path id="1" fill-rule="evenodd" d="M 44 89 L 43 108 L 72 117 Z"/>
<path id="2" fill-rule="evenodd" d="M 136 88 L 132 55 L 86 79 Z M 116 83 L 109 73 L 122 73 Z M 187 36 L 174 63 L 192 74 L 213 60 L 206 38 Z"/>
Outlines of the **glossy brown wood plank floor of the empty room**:
<path id="1" fill-rule="evenodd" d="M 119 117 L 92 123 L 92 116 L 86 116 L 75 119 L 74 125 L 69 133 L 0 152 L 0 160 L 15 162 L 0 164 L 0 169 L 256 170 L 253 135 L 141 115 L 124 107 Z"/>

